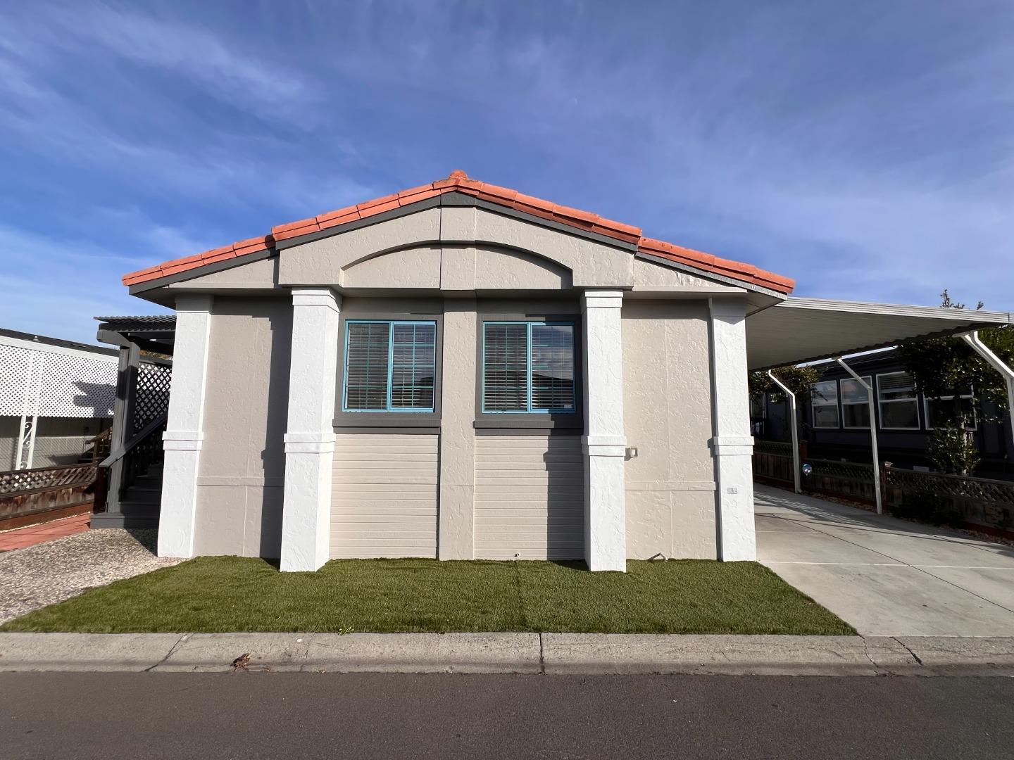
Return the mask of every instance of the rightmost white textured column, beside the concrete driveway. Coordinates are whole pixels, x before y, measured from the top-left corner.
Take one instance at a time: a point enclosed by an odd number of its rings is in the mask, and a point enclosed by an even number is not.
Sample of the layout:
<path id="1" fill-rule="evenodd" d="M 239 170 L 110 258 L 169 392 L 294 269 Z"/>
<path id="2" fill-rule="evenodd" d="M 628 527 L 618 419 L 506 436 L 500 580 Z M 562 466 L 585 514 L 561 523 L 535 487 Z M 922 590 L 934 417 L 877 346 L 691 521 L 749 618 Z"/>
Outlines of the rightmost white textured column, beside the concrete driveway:
<path id="1" fill-rule="evenodd" d="M 718 558 L 756 559 L 753 437 L 746 369 L 746 303 L 711 299 L 711 440 L 718 486 Z"/>

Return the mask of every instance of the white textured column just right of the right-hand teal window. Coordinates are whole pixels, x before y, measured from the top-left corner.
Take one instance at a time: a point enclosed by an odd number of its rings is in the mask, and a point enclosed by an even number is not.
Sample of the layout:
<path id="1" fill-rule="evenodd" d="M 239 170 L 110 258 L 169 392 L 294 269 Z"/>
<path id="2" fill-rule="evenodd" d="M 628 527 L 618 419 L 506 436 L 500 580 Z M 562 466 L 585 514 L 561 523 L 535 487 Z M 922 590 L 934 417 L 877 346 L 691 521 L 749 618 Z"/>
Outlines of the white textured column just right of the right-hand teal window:
<path id="1" fill-rule="evenodd" d="M 623 291 L 586 291 L 584 316 L 584 556 L 592 571 L 627 569 L 624 504 Z"/>

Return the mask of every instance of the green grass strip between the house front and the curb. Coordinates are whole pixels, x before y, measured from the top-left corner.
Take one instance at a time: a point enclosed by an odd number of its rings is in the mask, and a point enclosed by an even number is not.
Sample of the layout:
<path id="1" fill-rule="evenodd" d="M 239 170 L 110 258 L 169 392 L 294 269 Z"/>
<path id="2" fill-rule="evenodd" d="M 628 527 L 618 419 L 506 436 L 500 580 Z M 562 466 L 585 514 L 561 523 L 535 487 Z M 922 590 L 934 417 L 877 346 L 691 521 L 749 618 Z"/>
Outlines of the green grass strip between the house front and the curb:
<path id="1" fill-rule="evenodd" d="M 280 573 L 198 557 L 11 620 L 6 631 L 793 633 L 851 625 L 756 562 L 337 559 Z"/>

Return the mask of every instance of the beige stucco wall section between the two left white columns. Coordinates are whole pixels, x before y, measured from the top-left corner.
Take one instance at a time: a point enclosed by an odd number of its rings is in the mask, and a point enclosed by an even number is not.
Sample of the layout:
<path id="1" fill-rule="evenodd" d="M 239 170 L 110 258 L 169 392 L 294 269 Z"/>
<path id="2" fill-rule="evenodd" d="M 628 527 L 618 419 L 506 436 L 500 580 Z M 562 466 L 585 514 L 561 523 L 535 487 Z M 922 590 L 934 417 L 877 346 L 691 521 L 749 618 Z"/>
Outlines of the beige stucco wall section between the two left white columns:
<path id="1" fill-rule="evenodd" d="M 195 552 L 277 557 L 292 302 L 215 299 Z"/>

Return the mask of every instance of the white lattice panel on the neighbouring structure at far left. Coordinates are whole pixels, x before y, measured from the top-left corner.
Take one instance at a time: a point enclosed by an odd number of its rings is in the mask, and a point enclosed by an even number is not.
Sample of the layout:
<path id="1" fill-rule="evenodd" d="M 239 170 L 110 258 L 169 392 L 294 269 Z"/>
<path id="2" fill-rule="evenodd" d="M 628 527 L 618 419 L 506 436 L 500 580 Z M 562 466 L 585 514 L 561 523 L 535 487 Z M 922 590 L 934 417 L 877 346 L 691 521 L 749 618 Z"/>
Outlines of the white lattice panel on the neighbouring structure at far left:
<path id="1" fill-rule="evenodd" d="M 112 416 L 116 395 L 115 357 L 0 345 L 0 414 Z"/>

